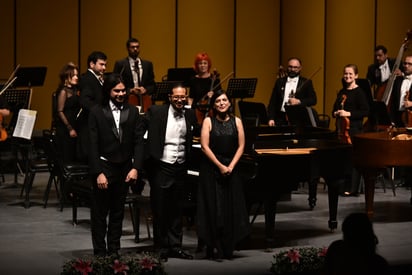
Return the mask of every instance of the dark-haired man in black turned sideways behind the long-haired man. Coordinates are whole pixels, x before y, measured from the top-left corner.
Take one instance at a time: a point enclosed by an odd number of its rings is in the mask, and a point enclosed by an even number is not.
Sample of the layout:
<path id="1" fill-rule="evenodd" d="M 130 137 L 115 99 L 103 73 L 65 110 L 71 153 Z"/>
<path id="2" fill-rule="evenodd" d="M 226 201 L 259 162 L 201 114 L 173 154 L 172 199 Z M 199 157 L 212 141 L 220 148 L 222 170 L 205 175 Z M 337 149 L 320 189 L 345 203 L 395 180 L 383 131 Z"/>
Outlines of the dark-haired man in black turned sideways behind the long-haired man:
<path id="1" fill-rule="evenodd" d="M 87 162 L 89 148 L 88 117 L 90 110 L 103 99 L 103 75 L 106 71 L 107 56 L 100 51 L 92 52 L 87 58 L 87 71 L 80 76 L 80 107 L 78 114 L 77 158 Z"/>

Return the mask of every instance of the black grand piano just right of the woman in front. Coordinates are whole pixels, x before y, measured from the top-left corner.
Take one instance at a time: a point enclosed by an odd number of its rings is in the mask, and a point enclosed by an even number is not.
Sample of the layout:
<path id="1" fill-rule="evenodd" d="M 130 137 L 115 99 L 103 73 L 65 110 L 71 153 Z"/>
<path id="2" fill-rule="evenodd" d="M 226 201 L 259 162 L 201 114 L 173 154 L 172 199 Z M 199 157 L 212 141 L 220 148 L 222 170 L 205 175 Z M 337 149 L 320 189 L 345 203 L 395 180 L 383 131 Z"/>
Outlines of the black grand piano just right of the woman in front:
<path id="1" fill-rule="evenodd" d="M 337 228 L 339 186 L 352 173 L 352 146 L 329 129 L 308 127 L 246 127 L 246 148 L 240 165 L 249 182 L 246 199 L 262 203 L 266 245 L 274 241 L 276 205 L 300 182 L 309 183 L 309 207 L 316 205 L 320 177 L 328 185 L 330 230 Z M 252 171 L 252 172 L 251 172 Z"/>

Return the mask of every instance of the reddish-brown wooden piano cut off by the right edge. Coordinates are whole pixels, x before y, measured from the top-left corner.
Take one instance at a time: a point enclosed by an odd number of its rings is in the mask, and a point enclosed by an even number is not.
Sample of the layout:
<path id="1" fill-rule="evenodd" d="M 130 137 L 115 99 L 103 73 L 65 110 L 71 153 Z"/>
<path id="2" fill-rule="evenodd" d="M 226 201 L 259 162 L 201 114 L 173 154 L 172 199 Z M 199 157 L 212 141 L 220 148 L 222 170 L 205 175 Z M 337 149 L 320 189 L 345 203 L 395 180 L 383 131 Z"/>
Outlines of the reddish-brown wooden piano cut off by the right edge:
<path id="1" fill-rule="evenodd" d="M 353 137 L 353 164 L 365 181 L 365 208 L 369 218 L 374 215 L 375 182 L 380 171 L 394 166 L 412 166 L 412 140 L 400 138 L 411 138 L 411 135 L 405 128 L 388 128 Z"/>

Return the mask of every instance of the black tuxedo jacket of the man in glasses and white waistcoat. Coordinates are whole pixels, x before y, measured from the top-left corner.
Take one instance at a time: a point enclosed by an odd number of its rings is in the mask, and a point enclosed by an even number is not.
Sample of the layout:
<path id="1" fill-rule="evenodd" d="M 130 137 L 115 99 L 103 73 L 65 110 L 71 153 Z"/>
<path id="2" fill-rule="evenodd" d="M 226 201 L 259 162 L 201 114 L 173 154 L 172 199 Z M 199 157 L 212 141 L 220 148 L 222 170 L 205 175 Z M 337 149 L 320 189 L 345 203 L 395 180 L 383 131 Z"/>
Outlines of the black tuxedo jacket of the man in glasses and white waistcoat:
<path id="1" fill-rule="evenodd" d="M 152 105 L 147 113 L 148 136 L 147 136 L 147 157 L 151 160 L 159 161 L 163 157 L 165 146 L 167 118 L 170 104 Z M 200 135 L 200 126 L 197 123 L 193 109 L 185 110 L 186 119 L 186 162 L 190 158 L 193 136 Z"/>

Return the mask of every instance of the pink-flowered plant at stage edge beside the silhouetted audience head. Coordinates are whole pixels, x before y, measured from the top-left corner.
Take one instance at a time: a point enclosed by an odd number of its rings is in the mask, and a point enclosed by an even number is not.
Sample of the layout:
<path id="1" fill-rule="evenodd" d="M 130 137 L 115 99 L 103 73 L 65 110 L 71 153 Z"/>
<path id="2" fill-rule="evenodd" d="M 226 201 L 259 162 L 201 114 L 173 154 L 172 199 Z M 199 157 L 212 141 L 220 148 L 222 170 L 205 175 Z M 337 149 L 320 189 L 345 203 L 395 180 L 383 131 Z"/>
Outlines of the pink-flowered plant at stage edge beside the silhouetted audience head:
<path id="1" fill-rule="evenodd" d="M 270 271 L 274 274 L 320 271 L 325 264 L 326 247 L 299 247 L 273 255 Z"/>

